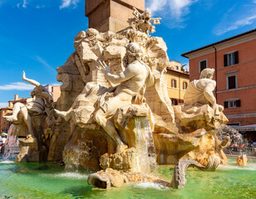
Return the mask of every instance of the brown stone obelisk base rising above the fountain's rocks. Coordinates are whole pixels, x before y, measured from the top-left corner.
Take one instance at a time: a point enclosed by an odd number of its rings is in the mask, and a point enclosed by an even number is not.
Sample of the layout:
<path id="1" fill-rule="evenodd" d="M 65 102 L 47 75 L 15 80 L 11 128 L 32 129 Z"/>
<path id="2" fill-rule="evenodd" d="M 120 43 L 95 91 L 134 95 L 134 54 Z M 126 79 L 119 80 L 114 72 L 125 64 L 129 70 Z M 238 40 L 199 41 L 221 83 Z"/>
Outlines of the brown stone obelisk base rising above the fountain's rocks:
<path id="1" fill-rule="evenodd" d="M 86 0 L 86 17 L 89 27 L 99 32 L 118 32 L 129 26 L 127 20 L 134 17 L 132 7 L 144 12 L 145 0 Z"/>

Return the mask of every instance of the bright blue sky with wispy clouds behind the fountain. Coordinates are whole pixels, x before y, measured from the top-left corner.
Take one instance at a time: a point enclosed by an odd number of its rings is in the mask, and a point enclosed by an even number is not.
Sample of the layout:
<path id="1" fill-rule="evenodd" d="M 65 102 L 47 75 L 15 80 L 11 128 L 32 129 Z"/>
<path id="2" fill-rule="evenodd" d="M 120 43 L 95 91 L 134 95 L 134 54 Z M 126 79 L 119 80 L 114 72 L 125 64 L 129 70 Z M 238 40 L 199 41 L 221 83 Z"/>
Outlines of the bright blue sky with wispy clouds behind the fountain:
<path id="1" fill-rule="evenodd" d="M 256 0 L 145 0 L 162 17 L 152 36 L 162 36 L 170 61 L 256 27 Z M 15 94 L 29 97 L 27 77 L 58 84 L 57 66 L 74 51 L 76 33 L 88 28 L 84 0 L 0 0 L 0 108 Z"/>

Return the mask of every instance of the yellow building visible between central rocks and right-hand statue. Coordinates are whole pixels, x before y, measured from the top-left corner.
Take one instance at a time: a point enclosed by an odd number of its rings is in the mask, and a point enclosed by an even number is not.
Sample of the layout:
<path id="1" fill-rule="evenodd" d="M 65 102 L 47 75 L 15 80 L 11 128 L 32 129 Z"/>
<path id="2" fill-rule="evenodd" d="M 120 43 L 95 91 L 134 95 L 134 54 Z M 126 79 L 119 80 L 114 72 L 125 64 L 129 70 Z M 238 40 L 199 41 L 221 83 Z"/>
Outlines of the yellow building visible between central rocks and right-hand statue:
<path id="1" fill-rule="evenodd" d="M 186 72 L 179 62 L 170 61 L 167 67 L 167 91 L 172 104 L 177 105 L 183 103 L 185 90 L 190 83 L 190 74 Z"/>

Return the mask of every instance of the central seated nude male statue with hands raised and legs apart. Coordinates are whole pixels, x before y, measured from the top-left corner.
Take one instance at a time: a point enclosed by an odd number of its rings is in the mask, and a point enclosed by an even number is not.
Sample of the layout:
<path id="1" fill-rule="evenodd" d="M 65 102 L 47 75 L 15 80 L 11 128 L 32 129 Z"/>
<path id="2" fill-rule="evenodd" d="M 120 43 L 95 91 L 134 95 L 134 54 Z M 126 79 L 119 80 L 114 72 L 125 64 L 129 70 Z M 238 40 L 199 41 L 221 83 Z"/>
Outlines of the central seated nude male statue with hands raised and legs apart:
<path id="1" fill-rule="evenodd" d="M 119 75 L 111 74 L 111 67 L 106 66 L 104 61 L 99 61 L 100 66 L 98 66 L 98 70 L 102 70 L 105 73 L 106 79 L 111 83 L 120 84 L 116 86 L 111 97 L 106 99 L 105 95 L 99 92 L 102 87 L 100 85 L 93 85 L 92 83 L 87 83 L 81 93 L 81 95 L 86 94 L 85 97 L 88 97 L 91 92 L 94 92 L 98 96 L 98 101 L 101 99 L 100 108 L 94 112 L 94 120 L 106 131 L 106 138 L 111 137 L 116 142 L 116 153 L 121 153 L 127 146 L 122 142 L 110 118 L 116 113 L 117 109 L 132 104 L 135 99 L 141 99 L 141 96 L 144 95 L 145 87 L 154 83 L 150 67 L 140 61 L 140 56 L 140 46 L 138 44 L 130 43 L 126 45 L 125 58 L 127 66 L 126 70 L 122 71 Z M 105 91 L 109 92 L 110 89 L 106 89 Z M 78 95 L 76 100 L 79 99 L 81 99 L 81 96 Z M 68 121 L 71 118 L 72 110 L 76 109 L 76 100 L 68 111 L 58 111 L 55 109 L 56 113 Z"/>

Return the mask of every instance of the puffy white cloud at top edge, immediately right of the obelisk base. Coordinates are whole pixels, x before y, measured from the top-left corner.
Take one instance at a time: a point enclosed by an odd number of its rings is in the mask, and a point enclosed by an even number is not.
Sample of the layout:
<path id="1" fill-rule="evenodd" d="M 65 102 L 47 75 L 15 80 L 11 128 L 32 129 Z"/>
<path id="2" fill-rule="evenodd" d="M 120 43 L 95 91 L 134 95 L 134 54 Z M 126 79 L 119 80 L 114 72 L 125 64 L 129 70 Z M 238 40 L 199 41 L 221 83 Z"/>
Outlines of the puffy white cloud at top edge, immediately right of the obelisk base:
<path id="1" fill-rule="evenodd" d="M 198 0 L 149 0 L 148 5 L 151 12 L 169 14 L 178 21 L 183 21 L 186 14 L 190 12 L 190 6 Z M 163 13 L 164 12 L 164 13 Z"/>

